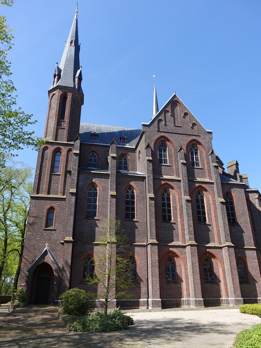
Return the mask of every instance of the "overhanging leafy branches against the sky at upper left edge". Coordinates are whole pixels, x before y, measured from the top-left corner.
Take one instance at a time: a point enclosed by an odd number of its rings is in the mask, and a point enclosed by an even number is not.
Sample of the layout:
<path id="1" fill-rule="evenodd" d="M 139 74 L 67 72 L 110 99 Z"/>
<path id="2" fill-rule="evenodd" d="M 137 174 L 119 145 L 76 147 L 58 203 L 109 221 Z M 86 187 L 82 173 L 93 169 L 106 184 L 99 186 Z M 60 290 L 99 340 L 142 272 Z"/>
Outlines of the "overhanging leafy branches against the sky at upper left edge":
<path id="1" fill-rule="evenodd" d="M 14 0 L 3 0 L 0 4 L 12 6 Z M 5 165 L 5 153 L 14 155 L 17 150 L 33 147 L 36 150 L 44 143 L 39 137 L 33 136 L 34 131 L 26 130 L 32 115 L 25 114 L 21 107 L 15 108 L 16 88 L 10 80 L 10 62 L 7 53 L 12 47 L 14 30 L 6 23 L 6 17 L 0 16 L 0 168 Z"/>

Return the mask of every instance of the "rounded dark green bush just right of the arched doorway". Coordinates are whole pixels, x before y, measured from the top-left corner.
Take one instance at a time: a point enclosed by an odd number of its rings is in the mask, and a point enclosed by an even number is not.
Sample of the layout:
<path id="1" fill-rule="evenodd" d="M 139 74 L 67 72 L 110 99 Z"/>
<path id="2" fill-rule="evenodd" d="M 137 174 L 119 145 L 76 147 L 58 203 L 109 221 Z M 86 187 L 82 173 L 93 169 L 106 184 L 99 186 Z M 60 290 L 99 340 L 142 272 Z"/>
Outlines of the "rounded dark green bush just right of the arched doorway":
<path id="1" fill-rule="evenodd" d="M 66 290 L 59 299 L 64 314 L 79 316 L 86 314 L 90 310 L 93 294 L 80 290 L 78 288 Z"/>

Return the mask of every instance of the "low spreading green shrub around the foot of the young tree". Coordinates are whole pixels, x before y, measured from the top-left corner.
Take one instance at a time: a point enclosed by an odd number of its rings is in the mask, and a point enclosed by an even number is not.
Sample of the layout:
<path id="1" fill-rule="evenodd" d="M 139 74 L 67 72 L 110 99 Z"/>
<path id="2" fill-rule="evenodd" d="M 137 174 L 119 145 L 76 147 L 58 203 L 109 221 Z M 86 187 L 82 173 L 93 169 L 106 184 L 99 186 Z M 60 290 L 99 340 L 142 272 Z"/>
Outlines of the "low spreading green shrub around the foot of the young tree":
<path id="1" fill-rule="evenodd" d="M 75 318 L 71 327 L 72 331 L 119 331 L 128 329 L 133 325 L 133 318 L 122 313 L 118 308 L 110 314 L 95 312 L 88 316 Z"/>

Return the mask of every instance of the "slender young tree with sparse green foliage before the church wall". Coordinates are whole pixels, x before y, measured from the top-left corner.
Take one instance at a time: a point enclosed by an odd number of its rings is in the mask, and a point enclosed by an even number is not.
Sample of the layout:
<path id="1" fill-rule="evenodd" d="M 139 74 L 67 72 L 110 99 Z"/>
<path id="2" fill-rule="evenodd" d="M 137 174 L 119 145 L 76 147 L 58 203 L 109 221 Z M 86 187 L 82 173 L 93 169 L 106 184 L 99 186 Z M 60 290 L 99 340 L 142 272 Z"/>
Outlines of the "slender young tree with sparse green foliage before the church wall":
<path id="1" fill-rule="evenodd" d="M 89 284 L 98 284 L 97 300 L 104 306 L 104 314 L 107 314 L 108 303 L 115 299 L 133 298 L 130 290 L 134 287 L 130 272 L 129 259 L 124 258 L 127 247 L 126 236 L 120 227 L 119 220 L 109 217 L 105 220 L 102 235 L 97 252 L 96 274 L 92 277 L 86 274 Z"/>

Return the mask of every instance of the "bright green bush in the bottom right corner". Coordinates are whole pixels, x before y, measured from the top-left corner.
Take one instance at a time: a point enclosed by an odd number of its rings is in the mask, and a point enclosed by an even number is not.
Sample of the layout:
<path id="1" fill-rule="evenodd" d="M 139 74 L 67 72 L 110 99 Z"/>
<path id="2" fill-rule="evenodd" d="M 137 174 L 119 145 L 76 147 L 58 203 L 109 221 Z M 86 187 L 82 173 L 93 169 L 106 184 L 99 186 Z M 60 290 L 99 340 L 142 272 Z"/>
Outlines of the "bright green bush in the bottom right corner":
<path id="1" fill-rule="evenodd" d="M 243 312 L 242 312 L 243 313 Z M 240 331 L 235 338 L 232 348 L 260 348 L 261 347 L 261 324 L 252 329 Z"/>

